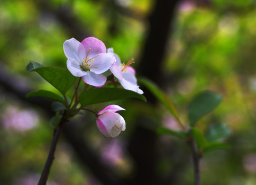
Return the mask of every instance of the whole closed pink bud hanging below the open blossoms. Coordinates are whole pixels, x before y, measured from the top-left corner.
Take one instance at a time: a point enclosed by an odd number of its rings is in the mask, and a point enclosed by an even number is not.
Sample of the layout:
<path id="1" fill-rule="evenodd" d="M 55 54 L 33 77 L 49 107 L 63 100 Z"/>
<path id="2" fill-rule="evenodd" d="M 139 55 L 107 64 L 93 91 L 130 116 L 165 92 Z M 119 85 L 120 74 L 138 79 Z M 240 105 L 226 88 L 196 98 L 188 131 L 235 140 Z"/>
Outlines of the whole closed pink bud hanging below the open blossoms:
<path id="1" fill-rule="evenodd" d="M 115 113 L 118 110 L 125 110 L 118 105 L 109 105 L 98 113 L 96 119 L 99 132 L 106 137 L 117 137 L 125 130 L 125 120 L 120 115 Z"/>

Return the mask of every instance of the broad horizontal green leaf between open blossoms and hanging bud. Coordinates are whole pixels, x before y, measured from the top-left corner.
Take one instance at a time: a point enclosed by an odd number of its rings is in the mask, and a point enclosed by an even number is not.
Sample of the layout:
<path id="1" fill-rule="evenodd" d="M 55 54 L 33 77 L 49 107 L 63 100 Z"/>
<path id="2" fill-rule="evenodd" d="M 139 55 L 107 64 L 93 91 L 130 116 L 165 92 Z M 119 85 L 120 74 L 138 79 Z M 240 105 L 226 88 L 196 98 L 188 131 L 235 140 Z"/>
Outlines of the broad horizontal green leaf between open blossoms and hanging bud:
<path id="1" fill-rule="evenodd" d="M 121 88 L 94 88 L 82 93 L 78 99 L 83 107 L 94 103 L 102 103 L 126 98 L 139 98 L 146 102 L 146 98 L 143 95 Z"/>

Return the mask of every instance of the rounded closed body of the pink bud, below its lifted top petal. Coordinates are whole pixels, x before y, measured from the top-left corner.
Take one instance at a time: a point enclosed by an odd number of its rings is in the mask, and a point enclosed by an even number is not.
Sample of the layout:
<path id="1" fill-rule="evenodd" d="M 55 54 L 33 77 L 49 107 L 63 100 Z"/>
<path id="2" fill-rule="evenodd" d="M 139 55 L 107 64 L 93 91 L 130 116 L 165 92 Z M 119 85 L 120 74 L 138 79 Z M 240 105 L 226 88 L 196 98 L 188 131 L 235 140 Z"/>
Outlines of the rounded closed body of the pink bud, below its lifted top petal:
<path id="1" fill-rule="evenodd" d="M 117 113 L 108 112 L 97 119 L 99 131 L 106 137 L 116 137 L 125 130 L 125 120 Z"/>

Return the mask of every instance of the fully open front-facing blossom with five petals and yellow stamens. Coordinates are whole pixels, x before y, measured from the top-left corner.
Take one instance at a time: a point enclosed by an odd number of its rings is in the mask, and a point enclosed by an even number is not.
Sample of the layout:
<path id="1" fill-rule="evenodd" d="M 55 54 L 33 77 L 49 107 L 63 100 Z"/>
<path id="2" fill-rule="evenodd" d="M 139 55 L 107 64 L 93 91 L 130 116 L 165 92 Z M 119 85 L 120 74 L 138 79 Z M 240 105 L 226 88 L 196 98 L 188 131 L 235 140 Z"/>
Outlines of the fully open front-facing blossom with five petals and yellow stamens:
<path id="1" fill-rule="evenodd" d="M 64 42 L 63 49 L 72 75 L 82 77 L 85 83 L 95 87 L 105 84 L 107 78 L 102 73 L 115 63 L 115 57 L 113 53 L 106 53 L 103 42 L 89 37 L 80 43 L 72 38 Z"/>

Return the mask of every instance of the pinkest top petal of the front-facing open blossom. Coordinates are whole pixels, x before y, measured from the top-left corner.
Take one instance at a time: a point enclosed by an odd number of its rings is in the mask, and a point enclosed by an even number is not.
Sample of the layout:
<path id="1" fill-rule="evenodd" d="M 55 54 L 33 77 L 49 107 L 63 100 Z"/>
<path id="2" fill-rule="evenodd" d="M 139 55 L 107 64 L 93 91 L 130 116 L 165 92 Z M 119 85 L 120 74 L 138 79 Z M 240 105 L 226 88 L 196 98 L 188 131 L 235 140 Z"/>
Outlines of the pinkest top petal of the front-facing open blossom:
<path id="1" fill-rule="evenodd" d="M 81 44 L 86 49 L 86 53 L 88 53 L 88 51 L 90 50 L 89 52 L 90 58 L 94 57 L 99 53 L 106 53 L 107 51 L 105 44 L 94 37 L 89 37 L 84 39 L 81 42 Z"/>

